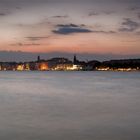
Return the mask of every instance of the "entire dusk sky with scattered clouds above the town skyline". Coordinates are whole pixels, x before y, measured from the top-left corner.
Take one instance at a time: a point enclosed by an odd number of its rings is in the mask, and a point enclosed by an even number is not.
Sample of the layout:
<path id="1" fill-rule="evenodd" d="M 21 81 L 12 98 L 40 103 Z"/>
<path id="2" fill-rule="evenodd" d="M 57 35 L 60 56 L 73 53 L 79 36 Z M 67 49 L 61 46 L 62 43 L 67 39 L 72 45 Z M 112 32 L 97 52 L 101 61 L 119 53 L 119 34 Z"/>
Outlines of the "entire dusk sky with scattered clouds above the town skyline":
<path id="1" fill-rule="evenodd" d="M 0 0 L 0 61 L 140 56 L 140 0 Z"/>

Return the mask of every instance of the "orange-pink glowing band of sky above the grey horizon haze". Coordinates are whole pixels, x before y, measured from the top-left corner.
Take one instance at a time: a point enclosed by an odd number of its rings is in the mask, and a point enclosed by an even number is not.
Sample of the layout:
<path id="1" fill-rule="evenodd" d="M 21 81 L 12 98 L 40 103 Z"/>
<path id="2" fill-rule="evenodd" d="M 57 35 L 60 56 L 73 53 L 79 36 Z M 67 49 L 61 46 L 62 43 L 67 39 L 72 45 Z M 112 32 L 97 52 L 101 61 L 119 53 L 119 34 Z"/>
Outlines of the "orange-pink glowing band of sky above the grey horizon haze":
<path id="1" fill-rule="evenodd" d="M 134 36 L 129 39 L 136 40 Z M 123 41 L 123 40 L 126 40 Z M 124 35 L 95 35 L 79 34 L 70 36 L 57 36 L 56 38 L 44 39 L 39 42 L 14 44 L 0 43 L 1 51 L 22 51 L 31 53 L 89 53 L 89 54 L 138 54 L 140 52 L 139 40 L 127 42 L 128 37 Z M 27 45 L 26 45 L 27 44 Z"/>

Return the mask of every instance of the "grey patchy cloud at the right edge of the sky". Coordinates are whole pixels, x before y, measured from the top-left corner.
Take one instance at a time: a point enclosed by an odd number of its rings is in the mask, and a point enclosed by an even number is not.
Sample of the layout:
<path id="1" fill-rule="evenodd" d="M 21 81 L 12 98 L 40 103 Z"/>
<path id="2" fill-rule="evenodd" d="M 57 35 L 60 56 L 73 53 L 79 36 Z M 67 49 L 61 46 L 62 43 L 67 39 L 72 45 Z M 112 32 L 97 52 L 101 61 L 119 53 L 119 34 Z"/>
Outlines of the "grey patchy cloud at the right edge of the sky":
<path id="1" fill-rule="evenodd" d="M 140 23 L 131 20 L 130 18 L 124 18 L 122 22 L 122 27 L 119 28 L 121 32 L 133 32 L 140 27 Z"/>

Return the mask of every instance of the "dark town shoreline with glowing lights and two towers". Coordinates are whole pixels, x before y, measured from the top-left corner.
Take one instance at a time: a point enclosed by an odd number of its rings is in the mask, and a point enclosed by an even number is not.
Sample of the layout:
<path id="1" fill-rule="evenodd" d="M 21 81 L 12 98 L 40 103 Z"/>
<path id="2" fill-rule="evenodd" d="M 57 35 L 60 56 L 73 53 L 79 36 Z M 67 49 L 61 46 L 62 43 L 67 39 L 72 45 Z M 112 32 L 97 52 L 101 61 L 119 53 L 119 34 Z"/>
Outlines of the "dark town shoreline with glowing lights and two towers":
<path id="1" fill-rule="evenodd" d="M 74 55 L 73 61 L 64 57 L 49 60 L 37 57 L 32 62 L 0 62 L 0 71 L 140 71 L 140 59 L 122 59 L 100 62 L 80 61 Z"/>

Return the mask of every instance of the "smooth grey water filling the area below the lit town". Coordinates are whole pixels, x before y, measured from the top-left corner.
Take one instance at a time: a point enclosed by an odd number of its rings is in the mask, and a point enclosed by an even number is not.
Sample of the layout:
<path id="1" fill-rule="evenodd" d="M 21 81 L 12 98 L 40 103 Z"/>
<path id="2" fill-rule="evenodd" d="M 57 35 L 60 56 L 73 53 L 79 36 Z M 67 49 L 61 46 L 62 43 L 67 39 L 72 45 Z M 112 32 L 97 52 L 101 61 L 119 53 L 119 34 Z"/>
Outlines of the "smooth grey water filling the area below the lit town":
<path id="1" fill-rule="evenodd" d="M 140 73 L 0 72 L 0 140 L 140 140 Z"/>

